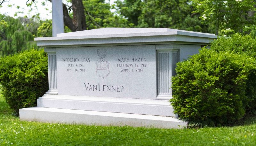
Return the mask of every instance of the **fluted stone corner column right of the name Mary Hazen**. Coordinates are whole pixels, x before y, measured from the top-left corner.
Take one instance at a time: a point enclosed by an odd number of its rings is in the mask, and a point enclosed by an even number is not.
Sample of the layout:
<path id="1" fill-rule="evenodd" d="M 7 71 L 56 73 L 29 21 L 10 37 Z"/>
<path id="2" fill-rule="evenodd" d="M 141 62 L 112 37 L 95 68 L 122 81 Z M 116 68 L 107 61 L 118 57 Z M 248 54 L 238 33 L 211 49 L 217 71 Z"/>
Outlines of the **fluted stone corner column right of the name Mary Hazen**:
<path id="1" fill-rule="evenodd" d="M 158 100 L 172 98 L 172 81 L 176 63 L 179 61 L 179 46 L 157 47 L 157 97 Z"/>

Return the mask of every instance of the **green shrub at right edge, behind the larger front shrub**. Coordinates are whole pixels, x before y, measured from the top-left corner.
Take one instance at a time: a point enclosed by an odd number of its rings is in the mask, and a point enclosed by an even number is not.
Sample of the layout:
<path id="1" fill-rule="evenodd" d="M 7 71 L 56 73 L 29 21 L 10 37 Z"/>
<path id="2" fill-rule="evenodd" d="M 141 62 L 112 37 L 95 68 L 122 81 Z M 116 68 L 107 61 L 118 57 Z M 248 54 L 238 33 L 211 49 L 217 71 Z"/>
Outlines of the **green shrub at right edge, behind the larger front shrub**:
<path id="1" fill-rule="evenodd" d="M 220 37 L 211 43 L 211 50 L 245 54 L 256 59 L 256 40 L 250 35 L 235 34 L 232 37 Z M 247 80 L 246 100 L 243 103 L 247 112 L 256 112 L 256 71 Z"/>

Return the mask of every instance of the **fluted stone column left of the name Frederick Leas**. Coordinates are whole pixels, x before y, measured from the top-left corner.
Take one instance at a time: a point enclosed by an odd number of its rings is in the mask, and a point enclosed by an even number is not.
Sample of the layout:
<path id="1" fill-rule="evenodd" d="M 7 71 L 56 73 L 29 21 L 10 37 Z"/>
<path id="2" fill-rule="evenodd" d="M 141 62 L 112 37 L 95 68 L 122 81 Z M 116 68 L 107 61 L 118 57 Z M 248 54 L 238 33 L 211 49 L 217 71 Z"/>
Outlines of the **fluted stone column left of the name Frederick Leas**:
<path id="1" fill-rule="evenodd" d="M 45 94 L 58 94 L 57 89 L 57 62 L 56 48 L 45 48 L 44 51 L 48 54 L 48 80 L 49 90 Z"/>

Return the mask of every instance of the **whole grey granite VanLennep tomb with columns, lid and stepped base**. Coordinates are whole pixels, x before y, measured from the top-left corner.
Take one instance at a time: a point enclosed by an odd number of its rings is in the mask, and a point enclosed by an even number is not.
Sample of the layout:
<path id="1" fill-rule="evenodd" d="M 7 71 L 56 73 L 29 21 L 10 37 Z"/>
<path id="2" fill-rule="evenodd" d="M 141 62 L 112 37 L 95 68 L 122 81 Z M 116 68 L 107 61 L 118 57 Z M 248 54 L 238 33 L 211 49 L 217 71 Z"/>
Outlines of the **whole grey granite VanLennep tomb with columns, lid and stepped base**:
<path id="1" fill-rule="evenodd" d="M 180 128 L 171 77 L 217 36 L 168 28 L 101 28 L 35 38 L 48 54 L 49 91 L 20 120 Z"/>

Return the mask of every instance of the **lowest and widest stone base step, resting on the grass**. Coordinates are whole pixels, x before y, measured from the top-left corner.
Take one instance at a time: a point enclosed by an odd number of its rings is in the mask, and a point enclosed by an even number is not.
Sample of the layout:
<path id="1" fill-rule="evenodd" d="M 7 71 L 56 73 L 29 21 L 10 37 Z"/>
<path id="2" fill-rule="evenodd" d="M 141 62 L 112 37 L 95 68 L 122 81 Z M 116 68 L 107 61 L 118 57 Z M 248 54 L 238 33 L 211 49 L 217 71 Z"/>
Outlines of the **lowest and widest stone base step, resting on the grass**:
<path id="1" fill-rule="evenodd" d="M 184 128 L 188 122 L 176 117 L 32 107 L 20 109 L 21 121 L 70 123 L 102 126 Z"/>

